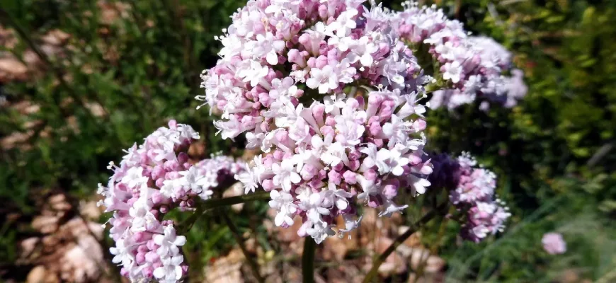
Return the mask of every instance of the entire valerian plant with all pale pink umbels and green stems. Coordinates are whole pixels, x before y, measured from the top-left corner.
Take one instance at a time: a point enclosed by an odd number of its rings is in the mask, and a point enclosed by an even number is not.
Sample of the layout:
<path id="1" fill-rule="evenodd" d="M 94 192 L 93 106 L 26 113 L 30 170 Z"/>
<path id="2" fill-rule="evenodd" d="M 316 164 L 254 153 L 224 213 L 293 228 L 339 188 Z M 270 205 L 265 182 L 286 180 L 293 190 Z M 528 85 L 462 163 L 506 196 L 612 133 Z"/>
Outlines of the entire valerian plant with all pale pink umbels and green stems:
<path id="1" fill-rule="evenodd" d="M 424 116 L 430 106 L 478 99 L 515 104 L 523 91 L 506 87 L 515 81 L 503 76 L 510 56 L 494 40 L 469 37 L 438 9 L 405 8 L 258 0 L 234 13 L 217 37 L 221 58 L 202 74 L 205 96 L 197 99 L 222 112 L 215 127 L 223 139 L 244 135 L 246 148 L 261 154 L 249 163 L 217 156 L 193 165 L 186 149 L 199 135 L 174 121 L 128 149 L 119 167 L 111 165 L 108 187 L 101 186 L 114 211 L 111 252 L 122 275 L 135 282 L 186 277 L 183 228 L 164 214 L 177 208 L 198 215 L 237 203 L 210 199 L 232 177 L 246 193 L 238 202 L 269 198 L 276 226 L 302 222 L 304 282 L 314 276 L 315 243 L 350 235 L 363 207 L 379 216 L 404 212 L 409 203 L 401 190 L 447 198 L 373 262 L 365 282 L 399 243 L 450 207 L 470 241 L 501 231 L 510 214 L 496 198 L 496 175 L 468 154 L 426 154 Z M 343 226 L 336 226 L 338 217 Z"/>

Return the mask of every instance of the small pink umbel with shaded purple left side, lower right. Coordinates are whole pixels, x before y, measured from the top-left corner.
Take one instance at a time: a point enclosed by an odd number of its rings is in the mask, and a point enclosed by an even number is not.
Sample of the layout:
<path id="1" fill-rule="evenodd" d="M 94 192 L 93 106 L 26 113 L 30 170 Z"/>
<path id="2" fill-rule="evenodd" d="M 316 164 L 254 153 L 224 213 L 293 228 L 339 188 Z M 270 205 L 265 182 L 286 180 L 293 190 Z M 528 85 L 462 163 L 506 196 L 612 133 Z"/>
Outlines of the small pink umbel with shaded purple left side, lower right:
<path id="1" fill-rule="evenodd" d="M 433 156 L 434 173 L 430 182 L 450 191 L 450 201 L 464 212 L 461 236 L 475 243 L 502 231 L 511 216 L 508 207 L 495 194 L 496 175 L 477 166 L 467 153 L 458 158 L 446 154 Z"/>

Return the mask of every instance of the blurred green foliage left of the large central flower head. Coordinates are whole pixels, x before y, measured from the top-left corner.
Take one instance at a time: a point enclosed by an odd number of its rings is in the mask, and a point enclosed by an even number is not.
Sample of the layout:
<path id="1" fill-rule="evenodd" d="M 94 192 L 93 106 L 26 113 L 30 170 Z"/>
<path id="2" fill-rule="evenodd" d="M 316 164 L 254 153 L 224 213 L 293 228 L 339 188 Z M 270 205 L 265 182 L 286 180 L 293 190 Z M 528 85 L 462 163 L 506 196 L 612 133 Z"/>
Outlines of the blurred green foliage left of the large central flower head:
<path id="1" fill-rule="evenodd" d="M 0 0 L 0 23 L 18 38 L 0 52 L 25 62 L 28 50 L 38 50 L 44 62 L 25 81 L 0 84 L 8 105 L 38 107 L 29 113 L 0 107 L 0 138 L 26 137 L 3 143 L 0 216 L 19 217 L 16 222 L 28 225 L 37 213 L 35 200 L 54 191 L 92 199 L 96 184 L 108 178 L 108 162 L 118 162 L 122 149 L 171 118 L 201 133 L 205 152 L 200 157 L 229 152 L 232 141 L 215 137 L 212 118 L 205 109 L 195 110 L 199 103 L 193 98 L 202 94 L 200 72 L 217 60 L 215 35 L 241 5 Z M 47 52 L 43 37 L 54 30 L 69 38 Z M 9 238 L 16 237 L 16 229 L 3 223 L 0 263 L 13 262 L 16 243 Z"/>

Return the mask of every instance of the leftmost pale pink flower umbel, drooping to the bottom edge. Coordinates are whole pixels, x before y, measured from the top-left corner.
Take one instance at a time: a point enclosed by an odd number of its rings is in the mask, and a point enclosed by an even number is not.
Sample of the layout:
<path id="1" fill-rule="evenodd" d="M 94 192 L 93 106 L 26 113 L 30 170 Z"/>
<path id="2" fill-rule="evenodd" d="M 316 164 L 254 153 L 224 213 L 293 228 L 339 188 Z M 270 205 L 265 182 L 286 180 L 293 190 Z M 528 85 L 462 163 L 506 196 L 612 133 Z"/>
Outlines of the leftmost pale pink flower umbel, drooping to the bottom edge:
<path id="1" fill-rule="evenodd" d="M 113 262 L 122 265 L 122 275 L 132 282 L 178 282 L 188 270 L 181 246 L 186 237 L 176 225 L 163 220 L 171 209 L 190 209 L 198 198 L 208 199 L 219 184 L 244 171 L 232 158 L 215 156 L 193 166 L 188 146 L 199 134 L 188 125 L 169 122 L 150 134 L 143 144 L 125 151 L 120 166 L 110 163 L 113 175 L 107 187 L 99 184 L 110 237 L 115 247 Z"/>

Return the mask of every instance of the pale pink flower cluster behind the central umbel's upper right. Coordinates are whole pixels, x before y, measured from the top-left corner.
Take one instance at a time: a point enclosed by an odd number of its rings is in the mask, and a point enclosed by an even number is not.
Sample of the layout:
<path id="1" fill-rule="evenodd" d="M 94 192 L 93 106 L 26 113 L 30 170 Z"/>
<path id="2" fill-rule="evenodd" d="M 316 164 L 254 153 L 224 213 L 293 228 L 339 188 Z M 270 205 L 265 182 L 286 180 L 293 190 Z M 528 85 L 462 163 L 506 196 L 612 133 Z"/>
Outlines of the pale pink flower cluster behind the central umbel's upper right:
<path id="1" fill-rule="evenodd" d="M 442 79 L 452 86 L 434 91 L 431 108 L 452 109 L 478 98 L 511 107 L 525 95 L 523 81 L 502 76 L 511 67 L 511 53 L 498 42 L 489 37 L 468 36 L 462 23 L 448 19 L 435 6 L 420 7 L 416 2 L 406 2 L 404 7 L 397 15 L 401 37 L 417 49 L 427 45 Z M 503 87 L 509 83 L 522 87 Z M 514 88 L 513 92 L 508 93 L 508 88 Z"/>

